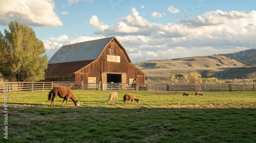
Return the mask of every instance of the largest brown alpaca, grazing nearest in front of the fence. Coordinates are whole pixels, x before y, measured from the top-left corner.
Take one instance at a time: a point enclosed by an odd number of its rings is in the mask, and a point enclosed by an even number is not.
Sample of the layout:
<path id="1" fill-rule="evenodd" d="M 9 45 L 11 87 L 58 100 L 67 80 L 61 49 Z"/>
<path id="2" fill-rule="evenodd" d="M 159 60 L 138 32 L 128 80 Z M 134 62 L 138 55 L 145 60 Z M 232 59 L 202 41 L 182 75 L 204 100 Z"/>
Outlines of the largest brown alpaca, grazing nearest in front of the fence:
<path id="1" fill-rule="evenodd" d="M 54 101 L 57 95 L 60 98 L 63 98 L 61 107 L 63 107 L 65 100 L 67 102 L 67 107 L 69 107 L 69 104 L 68 104 L 69 98 L 75 103 L 75 106 L 80 106 L 80 100 L 76 100 L 76 97 L 74 96 L 70 88 L 64 87 L 64 86 L 56 86 L 49 92 L 49 95 L 48 95 L 48 101 L 49 102 L 51 101 L 51 106 L 53 105 L 53 107 L 55 107 Z"/>

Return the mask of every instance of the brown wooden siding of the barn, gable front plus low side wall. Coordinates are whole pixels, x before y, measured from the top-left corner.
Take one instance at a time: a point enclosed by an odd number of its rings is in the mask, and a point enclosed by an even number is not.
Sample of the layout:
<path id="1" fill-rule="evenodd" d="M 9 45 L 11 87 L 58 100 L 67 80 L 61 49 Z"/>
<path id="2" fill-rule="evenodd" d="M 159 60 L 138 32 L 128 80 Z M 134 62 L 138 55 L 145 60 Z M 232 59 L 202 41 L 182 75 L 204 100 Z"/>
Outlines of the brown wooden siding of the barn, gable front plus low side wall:
<path id="1" fill-rule="evenodd" d="M 109 49 L 112 50 L 109 50 Z M 114 49 L 114 50 L 113 50 Z M 115 53 L 113 52 L 115 51 Z M 111 52 L 111 53 L 110 53 Z M 107 61 L 107 55 L 119 56 L 119 60 Z M 119 58 L 118 57 L 118 58 Z M 88 83 L 89 77 L 96 77 L 97 83 L 106 82 L 102 79 L 102 73 L 115 73 L 122 75 L 122 83 L 129 84 L 130 79 L 137 79 L 137 84 L 145 83 L 145 74 L 137 68 L 130 60 L 123 46 L 113 38 L 101 52 L 98 59 L 91 61 L 88 65 L 75 71 L 74 74 L 67 75 L 47 75 L 48 81 L 82 81 Z M 124 76 L 125 75 L 125 76 Z M 106 78 L 106 74 L 103 75 Z M 125 79 L 124 79 L 125 78 Z"/>

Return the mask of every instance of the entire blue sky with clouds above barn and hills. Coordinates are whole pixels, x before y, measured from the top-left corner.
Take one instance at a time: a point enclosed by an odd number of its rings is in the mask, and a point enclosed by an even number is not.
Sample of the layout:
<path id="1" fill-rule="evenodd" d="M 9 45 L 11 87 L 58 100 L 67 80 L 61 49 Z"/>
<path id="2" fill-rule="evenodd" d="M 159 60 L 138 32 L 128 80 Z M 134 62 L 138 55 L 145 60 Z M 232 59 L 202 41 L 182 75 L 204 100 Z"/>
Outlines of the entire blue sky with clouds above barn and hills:
<path id="1" fill-rule="evenodd" d="M 0 0 L 0 31 L 32 27 L 50 59 L 62 46 L 115 36 L 133 63 L 256 48 L 256 1 Z"/>

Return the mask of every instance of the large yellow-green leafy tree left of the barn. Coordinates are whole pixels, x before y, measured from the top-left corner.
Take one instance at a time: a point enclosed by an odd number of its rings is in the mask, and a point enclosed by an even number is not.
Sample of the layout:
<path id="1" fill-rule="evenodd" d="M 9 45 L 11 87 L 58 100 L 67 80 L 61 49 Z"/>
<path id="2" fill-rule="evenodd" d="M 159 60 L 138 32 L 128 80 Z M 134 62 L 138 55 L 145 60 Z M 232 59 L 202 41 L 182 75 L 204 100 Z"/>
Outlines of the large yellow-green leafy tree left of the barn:
<path id="1" fill-rule="evenodd" d="M 48 58 L 45 46 L 32 28 L 11 21 L 5 36 L 0 33 L 0 72 L 9 81 L 39 81 L 45 79 Z"/>

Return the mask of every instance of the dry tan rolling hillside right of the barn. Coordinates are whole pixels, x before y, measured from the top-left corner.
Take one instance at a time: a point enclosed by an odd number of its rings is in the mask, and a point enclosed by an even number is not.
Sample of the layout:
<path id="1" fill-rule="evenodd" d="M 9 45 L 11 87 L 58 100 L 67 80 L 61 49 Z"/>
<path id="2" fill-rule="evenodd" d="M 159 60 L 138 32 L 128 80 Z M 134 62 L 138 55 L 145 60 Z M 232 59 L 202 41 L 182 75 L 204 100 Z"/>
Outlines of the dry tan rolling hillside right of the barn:
<path id="1" fill-rule="evenodd" d="M 171 74 L 188 74 L 197 72 L 203 78 L 218 79 L 255 79 L 256 66 L 245 66 L 243 63 L 226 56 L 198 56 L 169 60 L 150 60 L 135 63 L 147 79 L 167 81 Z"/>

